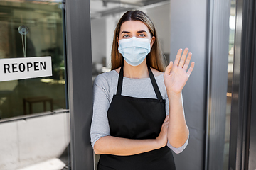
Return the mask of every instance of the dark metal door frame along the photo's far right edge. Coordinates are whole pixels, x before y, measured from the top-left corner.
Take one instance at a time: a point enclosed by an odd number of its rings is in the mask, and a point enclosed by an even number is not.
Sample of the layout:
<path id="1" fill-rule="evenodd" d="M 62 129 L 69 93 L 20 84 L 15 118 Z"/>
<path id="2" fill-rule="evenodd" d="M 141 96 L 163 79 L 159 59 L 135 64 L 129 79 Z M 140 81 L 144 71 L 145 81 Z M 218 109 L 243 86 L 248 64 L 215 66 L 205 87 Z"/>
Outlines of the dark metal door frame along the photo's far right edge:
<path id="1" fill-rule="evenodd" d="M 254 0 L 236 1 L 235 53 L 233 66 L 233 95 L 230 120 L 229 169 L 252 169 L 255 155 L 255 23 Z M 254 140 L 254 141 L 252 141 Z"/>

